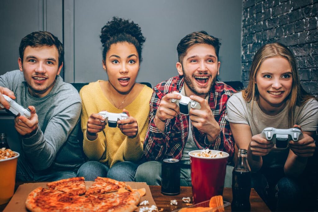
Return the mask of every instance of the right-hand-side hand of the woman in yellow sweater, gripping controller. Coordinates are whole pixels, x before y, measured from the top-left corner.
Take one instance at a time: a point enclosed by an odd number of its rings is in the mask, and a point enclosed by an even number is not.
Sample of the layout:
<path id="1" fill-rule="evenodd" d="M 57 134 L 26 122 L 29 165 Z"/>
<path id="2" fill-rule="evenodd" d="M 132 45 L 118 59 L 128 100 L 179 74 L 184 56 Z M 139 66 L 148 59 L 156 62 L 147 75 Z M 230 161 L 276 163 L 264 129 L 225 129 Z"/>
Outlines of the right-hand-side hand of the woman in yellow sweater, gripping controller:
<path id="1" fill-rule="evenodd" d="M 135 137 L 138 134 L 137 120 L 129 115 L 128 110 L 123 109 L 122 112 L 128 115 L 128 119 L 118 120 L 117 127 L 124 135 L 127 135 L 128 137 Z"/>

